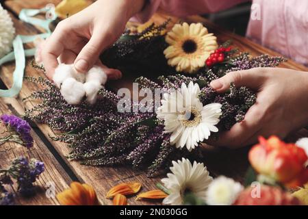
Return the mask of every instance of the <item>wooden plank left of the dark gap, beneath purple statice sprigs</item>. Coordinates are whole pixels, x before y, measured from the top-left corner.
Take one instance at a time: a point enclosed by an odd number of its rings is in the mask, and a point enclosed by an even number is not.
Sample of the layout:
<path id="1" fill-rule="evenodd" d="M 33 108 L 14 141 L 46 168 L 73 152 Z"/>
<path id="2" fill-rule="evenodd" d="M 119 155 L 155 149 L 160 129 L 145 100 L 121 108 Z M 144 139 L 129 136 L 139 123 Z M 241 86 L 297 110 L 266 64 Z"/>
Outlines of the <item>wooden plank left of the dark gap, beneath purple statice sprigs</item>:
<path id="1" fill-rule="evenodd" d="M 4 103 L 5 101 L 8 101 L 8 99 L 0 99 L 0 115 L 12 114 L 8 105 Z M 16 100 L 10 99 L 9 101 L 14 102 Z M 0 124 L 0 130 L 3 129 L 3 124 Z M 13 188 L 9 188 L 9 190 L 16 194 L 17 205 L 59 205 L 55 197 L 47 198 L 45 192 L 50 186 L 47 183 L 54 183 L 55 194 L 57 194 L 65 188 L 68 188 L 71 179 L 66 175 L 65 170 L 34 131 L 31 131 L 31 136 L 34 138 L 34 146 L 31 150 L 27 150 L 25 147 L 14 142 L 7 142 L 0 145 L 0 167 L 8 168 L 13 159 L 22 155 L 44 162 L 45 170 L 36 181 L 36 195 L 31 198 L 24 198 L 16 192 L 16 185 Z"/>

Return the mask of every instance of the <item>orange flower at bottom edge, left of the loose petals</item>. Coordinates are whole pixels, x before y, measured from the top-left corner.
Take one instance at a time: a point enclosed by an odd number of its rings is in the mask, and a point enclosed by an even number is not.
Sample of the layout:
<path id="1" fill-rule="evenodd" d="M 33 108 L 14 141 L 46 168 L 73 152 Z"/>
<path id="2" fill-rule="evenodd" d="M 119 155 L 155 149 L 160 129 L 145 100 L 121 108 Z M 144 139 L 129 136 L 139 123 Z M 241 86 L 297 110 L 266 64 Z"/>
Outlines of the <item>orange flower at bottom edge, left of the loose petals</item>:
<path id="1" fill-rule="evenodd" d="M 57 194 L 61 205 L 99 205 L 92 186 L 78 182 L 70 183 L 70 188 Z"/>

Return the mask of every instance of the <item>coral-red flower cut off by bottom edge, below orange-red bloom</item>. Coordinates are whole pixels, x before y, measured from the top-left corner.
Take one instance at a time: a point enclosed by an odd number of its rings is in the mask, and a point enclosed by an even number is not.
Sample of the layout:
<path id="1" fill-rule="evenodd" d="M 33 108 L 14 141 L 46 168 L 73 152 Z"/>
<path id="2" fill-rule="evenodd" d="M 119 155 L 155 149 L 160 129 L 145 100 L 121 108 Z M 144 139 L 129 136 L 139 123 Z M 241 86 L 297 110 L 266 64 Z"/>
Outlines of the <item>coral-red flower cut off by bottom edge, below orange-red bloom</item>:
<path id="1" fill-rule="evenodd" d="M 240 193 L 233 205 L 300 205 L 298 198 L 278 187 L 261 185 L 260 196 L 253 196 L 253 190 L 257 188 L 246 188 Z"/>

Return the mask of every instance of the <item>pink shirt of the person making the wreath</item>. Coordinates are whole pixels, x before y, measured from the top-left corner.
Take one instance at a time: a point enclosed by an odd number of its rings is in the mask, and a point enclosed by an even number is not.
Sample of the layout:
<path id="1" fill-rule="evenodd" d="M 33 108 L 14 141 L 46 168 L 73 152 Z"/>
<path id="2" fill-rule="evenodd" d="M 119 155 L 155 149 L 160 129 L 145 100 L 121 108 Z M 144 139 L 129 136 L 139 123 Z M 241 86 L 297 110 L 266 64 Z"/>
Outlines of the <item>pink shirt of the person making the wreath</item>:
<path id="1" fill-rule="evenodd" d="M 136 18 L 145 22 L 158 8 L 175 16 L 218 12 L 245 1 L 249 0 L 149 0 Z M 248 38 L 308 65 L 308 1 L 253 0 L 253 4 Z"/>

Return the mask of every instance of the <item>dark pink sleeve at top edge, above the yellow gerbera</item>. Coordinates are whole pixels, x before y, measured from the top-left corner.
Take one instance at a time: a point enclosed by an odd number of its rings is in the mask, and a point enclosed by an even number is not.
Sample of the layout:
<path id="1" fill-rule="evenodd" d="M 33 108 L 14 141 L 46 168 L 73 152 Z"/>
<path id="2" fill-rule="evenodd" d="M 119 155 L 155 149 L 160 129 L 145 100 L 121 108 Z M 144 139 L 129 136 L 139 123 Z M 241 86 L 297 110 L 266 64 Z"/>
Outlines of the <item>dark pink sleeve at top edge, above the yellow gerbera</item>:
<path id="1" fill-rule="evenodd" d="M 205 14 L 218 12 L 231 8 L 238 3 L 251 0 L 145 0 L 144 9 L 134 17 L 137 21 L 146 22 L 161 9 L 173 16 L 188 16 L 192 14 Z"/>

